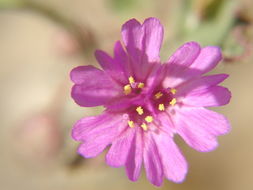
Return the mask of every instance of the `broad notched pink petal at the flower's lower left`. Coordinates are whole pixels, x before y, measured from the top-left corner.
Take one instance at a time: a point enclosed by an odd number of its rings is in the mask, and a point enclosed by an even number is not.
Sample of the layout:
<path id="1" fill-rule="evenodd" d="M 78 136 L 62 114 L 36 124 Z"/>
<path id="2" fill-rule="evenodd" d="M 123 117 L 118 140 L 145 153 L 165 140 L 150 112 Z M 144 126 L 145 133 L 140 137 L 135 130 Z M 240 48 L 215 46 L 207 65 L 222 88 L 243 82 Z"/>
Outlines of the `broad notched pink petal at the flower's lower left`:
<path id="1" fill-rule="evenodd" d="M 82 141 L 78 152 L 91 158 L 100 154 L 126 128 L 127 121 L 122 115 L 104 113 L 79 120 L 73 127 L 72 137 Z"/>

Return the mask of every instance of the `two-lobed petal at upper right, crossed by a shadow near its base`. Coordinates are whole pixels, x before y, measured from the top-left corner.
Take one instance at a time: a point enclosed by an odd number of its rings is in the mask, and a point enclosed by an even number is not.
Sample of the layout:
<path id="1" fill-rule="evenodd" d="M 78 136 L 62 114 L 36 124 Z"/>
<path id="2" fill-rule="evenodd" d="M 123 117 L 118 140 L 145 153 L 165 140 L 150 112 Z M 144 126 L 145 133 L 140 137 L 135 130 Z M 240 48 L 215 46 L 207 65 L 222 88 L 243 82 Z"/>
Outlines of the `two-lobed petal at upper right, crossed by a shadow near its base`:
<path id="1" fill-rule="evenodd" d="M 163 82 L 165 87 L 177 87 L 191 78 L 210 71 L 222 58 L 218 47 L 207 46 L 200 49 L 194 42 L 190 42 L 188 46 L 191 48 L 182 46 L 167 62 L 168 74 Z M 180 61 L 184 64 L 179 64 Z"/>

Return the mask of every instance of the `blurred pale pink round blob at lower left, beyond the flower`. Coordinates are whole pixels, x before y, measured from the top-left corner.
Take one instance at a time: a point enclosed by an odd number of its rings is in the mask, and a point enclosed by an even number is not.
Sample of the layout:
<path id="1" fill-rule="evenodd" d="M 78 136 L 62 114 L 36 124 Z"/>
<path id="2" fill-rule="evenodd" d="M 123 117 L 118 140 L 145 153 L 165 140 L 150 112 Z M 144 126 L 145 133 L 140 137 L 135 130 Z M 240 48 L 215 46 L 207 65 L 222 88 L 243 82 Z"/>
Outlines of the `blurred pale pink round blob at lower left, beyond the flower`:
<path id="1" fill-rule="evenodd" d="M 17 151 L 22 158 L 35 165 L 52 161 L 62 145 L 60 125 L 44 113 L 27 118 L 16 131 Z"/>

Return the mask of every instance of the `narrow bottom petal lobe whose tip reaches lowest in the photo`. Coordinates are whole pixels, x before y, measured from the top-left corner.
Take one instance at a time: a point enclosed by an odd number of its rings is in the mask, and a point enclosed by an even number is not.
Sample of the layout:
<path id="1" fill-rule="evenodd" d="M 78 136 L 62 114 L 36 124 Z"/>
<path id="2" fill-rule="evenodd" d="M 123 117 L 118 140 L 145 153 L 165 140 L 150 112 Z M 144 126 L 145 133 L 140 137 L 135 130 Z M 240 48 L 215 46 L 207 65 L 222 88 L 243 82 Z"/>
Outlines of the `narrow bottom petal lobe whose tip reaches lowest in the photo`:
<path id="1" fill-rule="evenodd" d="M 148 180 L 153 185 L 161 186 L 163 182 L 163 166 L 159 156 L 158 147 L 151 133 L 145 134 L 143 159 Z"/>

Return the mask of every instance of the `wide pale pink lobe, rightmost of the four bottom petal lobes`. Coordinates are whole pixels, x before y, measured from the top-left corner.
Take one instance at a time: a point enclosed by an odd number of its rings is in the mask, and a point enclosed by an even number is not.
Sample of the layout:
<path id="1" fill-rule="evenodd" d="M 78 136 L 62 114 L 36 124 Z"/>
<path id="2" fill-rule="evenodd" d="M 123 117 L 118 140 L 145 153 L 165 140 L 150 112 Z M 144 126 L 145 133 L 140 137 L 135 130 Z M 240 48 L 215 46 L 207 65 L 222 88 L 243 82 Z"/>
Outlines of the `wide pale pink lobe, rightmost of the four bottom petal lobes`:
<path id="1" fill-rule="evenodd" d="M 185 179 L 187 162 L 173 141 L 173 137 L 164 132 L 154 134 L 159 155 L 163 165 L 163 172 L 167 179 L 180 183 Z"/>

